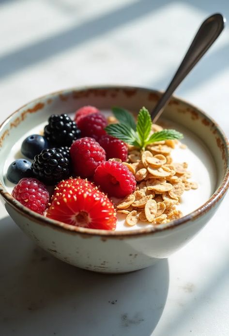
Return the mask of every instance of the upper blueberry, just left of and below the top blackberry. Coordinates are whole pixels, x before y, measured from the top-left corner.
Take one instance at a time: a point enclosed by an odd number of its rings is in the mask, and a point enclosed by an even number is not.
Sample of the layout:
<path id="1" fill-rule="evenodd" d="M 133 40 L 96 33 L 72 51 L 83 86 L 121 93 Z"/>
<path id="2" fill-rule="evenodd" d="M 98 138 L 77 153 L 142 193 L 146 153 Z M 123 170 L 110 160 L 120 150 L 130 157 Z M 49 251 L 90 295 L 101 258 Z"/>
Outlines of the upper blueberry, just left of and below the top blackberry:
<path id="1" fill-rule="evenodd" d="M 29 159 L 33 159 L 35 155 L 48 148 L 47 139 L 39 134 L 28 136 L 21 145 L 21 152 Z"/>

